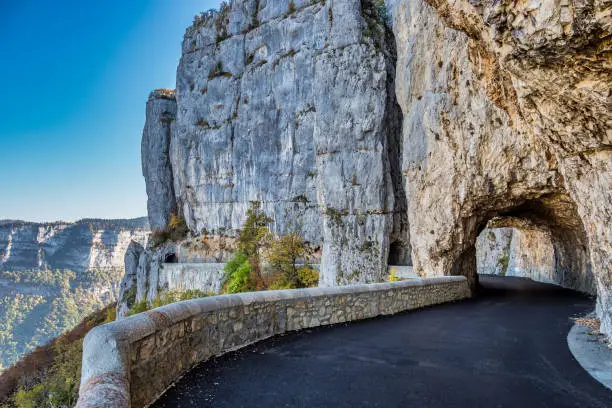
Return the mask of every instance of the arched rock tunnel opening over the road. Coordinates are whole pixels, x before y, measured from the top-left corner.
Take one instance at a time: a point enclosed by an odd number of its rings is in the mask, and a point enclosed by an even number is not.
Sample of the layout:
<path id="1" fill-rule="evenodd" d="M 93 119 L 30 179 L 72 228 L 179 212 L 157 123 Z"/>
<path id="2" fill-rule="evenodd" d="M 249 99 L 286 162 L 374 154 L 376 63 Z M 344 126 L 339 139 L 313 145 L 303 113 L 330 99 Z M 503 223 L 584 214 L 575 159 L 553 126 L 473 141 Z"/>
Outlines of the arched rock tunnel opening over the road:
<path id="1" fill-rule="evenodd" d="M 471 245 L 452 268 L 453 275 L 468 278 L 473 290 L 478 274 L 492 274 L 596 293 L 584 226 L 567 195 L 526 200 L 477 217 L 466 234 Z"/>

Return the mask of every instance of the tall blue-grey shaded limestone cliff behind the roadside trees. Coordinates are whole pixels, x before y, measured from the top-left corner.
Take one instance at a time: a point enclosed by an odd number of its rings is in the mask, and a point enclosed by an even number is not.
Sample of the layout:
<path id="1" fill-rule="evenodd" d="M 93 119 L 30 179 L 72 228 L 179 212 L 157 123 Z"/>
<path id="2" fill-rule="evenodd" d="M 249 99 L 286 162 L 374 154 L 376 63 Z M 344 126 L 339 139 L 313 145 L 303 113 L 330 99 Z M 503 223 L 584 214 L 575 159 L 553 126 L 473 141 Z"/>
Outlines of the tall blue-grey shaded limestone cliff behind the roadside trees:
<path id="1" fill-rule="evenodd" d="M 260 201 L 322 246 L 323 285 L 379 281 L 391 242 L 410 257 L 395 43 L 372 1 L 293 4 L 237 0 L 187 29 L 176 93 L 147 104 L 151 225 L 174 209 L 231 235 Z"/>

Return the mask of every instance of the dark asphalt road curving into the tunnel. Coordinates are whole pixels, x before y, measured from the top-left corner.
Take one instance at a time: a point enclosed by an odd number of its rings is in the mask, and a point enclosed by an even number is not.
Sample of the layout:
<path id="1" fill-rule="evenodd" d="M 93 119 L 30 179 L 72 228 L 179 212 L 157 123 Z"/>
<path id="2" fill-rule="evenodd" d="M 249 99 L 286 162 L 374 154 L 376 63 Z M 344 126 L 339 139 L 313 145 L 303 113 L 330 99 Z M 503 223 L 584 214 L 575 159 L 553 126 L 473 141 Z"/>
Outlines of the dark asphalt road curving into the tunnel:
<path id="1" fill-rule="evenodd" d="M 288 334 L 209 360 L 155 407 L 612 407 L 573 359 L 577 292 L 481 278 L 476 299 Z"/>

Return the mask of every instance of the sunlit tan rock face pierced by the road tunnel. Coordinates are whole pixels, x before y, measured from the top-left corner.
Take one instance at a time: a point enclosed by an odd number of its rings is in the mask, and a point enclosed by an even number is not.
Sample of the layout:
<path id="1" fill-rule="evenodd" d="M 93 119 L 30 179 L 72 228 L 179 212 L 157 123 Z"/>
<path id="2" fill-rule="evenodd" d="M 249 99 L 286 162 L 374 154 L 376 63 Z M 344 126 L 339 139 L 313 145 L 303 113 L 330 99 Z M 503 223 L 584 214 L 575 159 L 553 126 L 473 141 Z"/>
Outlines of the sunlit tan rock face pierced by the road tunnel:
<path id="1" fill-rule="evenodd" d="M 526 219 L 611 333 L 609 5 L 389 3 L 415 268 L 476 282 L 478 233 Z"/>

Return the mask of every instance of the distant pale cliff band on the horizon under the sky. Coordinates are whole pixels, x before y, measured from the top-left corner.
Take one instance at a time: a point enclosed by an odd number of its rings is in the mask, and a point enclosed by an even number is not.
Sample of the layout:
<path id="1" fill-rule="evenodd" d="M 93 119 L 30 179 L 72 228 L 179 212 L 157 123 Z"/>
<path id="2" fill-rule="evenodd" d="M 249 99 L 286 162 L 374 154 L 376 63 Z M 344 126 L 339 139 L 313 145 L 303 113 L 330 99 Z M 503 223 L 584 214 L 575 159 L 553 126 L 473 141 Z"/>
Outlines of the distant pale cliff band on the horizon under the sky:
<path id="1" fill-rule="evenodd" d="M 0 271 L 123 269 L 132 240 L 146 244 L 146 218 L 75 223 L 0 221 Z"/>

